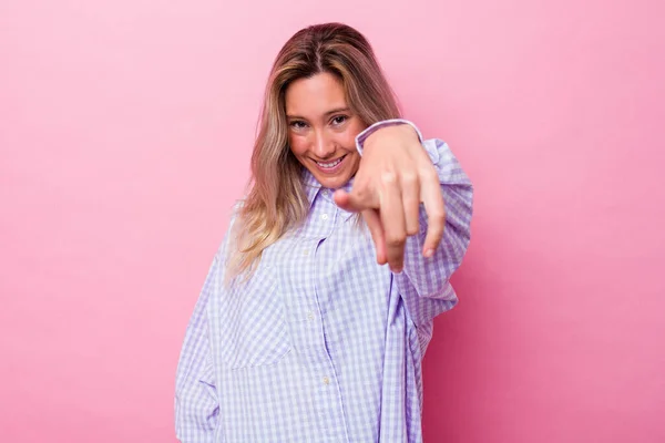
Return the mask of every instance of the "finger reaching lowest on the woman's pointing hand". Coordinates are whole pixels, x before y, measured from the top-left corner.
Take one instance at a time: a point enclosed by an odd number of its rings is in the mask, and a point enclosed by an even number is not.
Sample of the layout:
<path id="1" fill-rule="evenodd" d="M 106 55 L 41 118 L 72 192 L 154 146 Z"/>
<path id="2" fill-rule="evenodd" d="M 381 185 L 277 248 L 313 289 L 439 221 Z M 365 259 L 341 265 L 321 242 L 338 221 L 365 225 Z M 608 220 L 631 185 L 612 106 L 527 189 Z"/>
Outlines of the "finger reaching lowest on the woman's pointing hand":
<path id="1" fill-rule="evenodd" d="M 407 239 L 405 207 L 397 184 L 397 176 L 383 173 L 380 202 L 381 225 L 386 237 L 388 265 L 393 272 L 401 272 L 405 261 L 405 243 Z"/>

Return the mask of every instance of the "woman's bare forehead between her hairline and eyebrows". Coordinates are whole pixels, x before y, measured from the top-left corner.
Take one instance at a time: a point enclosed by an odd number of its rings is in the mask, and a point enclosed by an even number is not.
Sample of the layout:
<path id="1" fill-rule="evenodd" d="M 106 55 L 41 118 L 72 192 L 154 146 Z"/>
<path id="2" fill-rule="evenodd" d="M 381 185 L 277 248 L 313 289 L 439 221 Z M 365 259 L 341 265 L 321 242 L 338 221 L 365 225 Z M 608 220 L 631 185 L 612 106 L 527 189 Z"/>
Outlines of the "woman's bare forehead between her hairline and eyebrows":
<path id="1" fill-rule="evenodd" d="M 341 81 L 328 72 L 294 81 L 286 89 L 285 102 L 287 115 L 304 117 L 316 117 L 332 109 L 347 107 Z"/>

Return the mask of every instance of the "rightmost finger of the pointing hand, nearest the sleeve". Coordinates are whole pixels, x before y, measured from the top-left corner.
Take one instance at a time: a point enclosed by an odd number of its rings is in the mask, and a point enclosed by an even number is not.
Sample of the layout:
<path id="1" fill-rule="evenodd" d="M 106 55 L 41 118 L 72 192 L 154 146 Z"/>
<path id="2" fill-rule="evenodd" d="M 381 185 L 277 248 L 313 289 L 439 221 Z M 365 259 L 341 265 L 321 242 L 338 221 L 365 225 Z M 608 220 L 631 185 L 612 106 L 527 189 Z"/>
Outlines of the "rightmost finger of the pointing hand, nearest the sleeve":
<path id="1" fill-rule="evenodd" d="M 443 238 L 446 227 L 446 207 L 441 183 L 431 164 L 421 173 L 420 196 L 427 213 L 427 236 L 422 246 L 422 255 L 431 257 Z"/>

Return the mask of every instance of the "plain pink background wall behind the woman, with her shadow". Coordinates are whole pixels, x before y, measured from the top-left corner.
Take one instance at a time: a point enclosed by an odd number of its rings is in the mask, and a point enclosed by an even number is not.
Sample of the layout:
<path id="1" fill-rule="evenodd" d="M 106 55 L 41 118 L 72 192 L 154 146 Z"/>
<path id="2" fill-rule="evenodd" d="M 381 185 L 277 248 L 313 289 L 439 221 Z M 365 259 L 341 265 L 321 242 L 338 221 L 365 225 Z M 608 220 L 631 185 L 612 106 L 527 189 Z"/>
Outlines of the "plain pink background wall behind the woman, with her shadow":
<path id="1" fill-rule="evenodd" d="M 174 441 L 269 64 L 339 20 L 477 187 L 426 442 L 665 441 L 662 4 L 3 0 L 2 440 Z"/>

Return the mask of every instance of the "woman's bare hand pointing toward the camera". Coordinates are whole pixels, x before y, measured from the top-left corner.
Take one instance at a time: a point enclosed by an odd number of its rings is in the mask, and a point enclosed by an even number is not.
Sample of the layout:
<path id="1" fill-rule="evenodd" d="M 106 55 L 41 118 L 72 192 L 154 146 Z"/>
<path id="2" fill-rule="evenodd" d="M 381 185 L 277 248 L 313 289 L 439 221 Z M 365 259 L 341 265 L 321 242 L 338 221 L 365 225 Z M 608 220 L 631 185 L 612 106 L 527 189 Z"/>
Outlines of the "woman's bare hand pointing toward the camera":
<path id="1" fill-rule="evenodd" d="M 339 207 L 362 214 L 377 249 L 377 262 L 393 272 L 403 268 L 408 236 L 419 233 L 420 203 L 428 216 L 422 254 L 430 257 L 443 237 L 446 212 L 439 176 L 407 124 L 386 126 L 364 144 L 362 159 L 350 193 L 335 193 Z"/>

